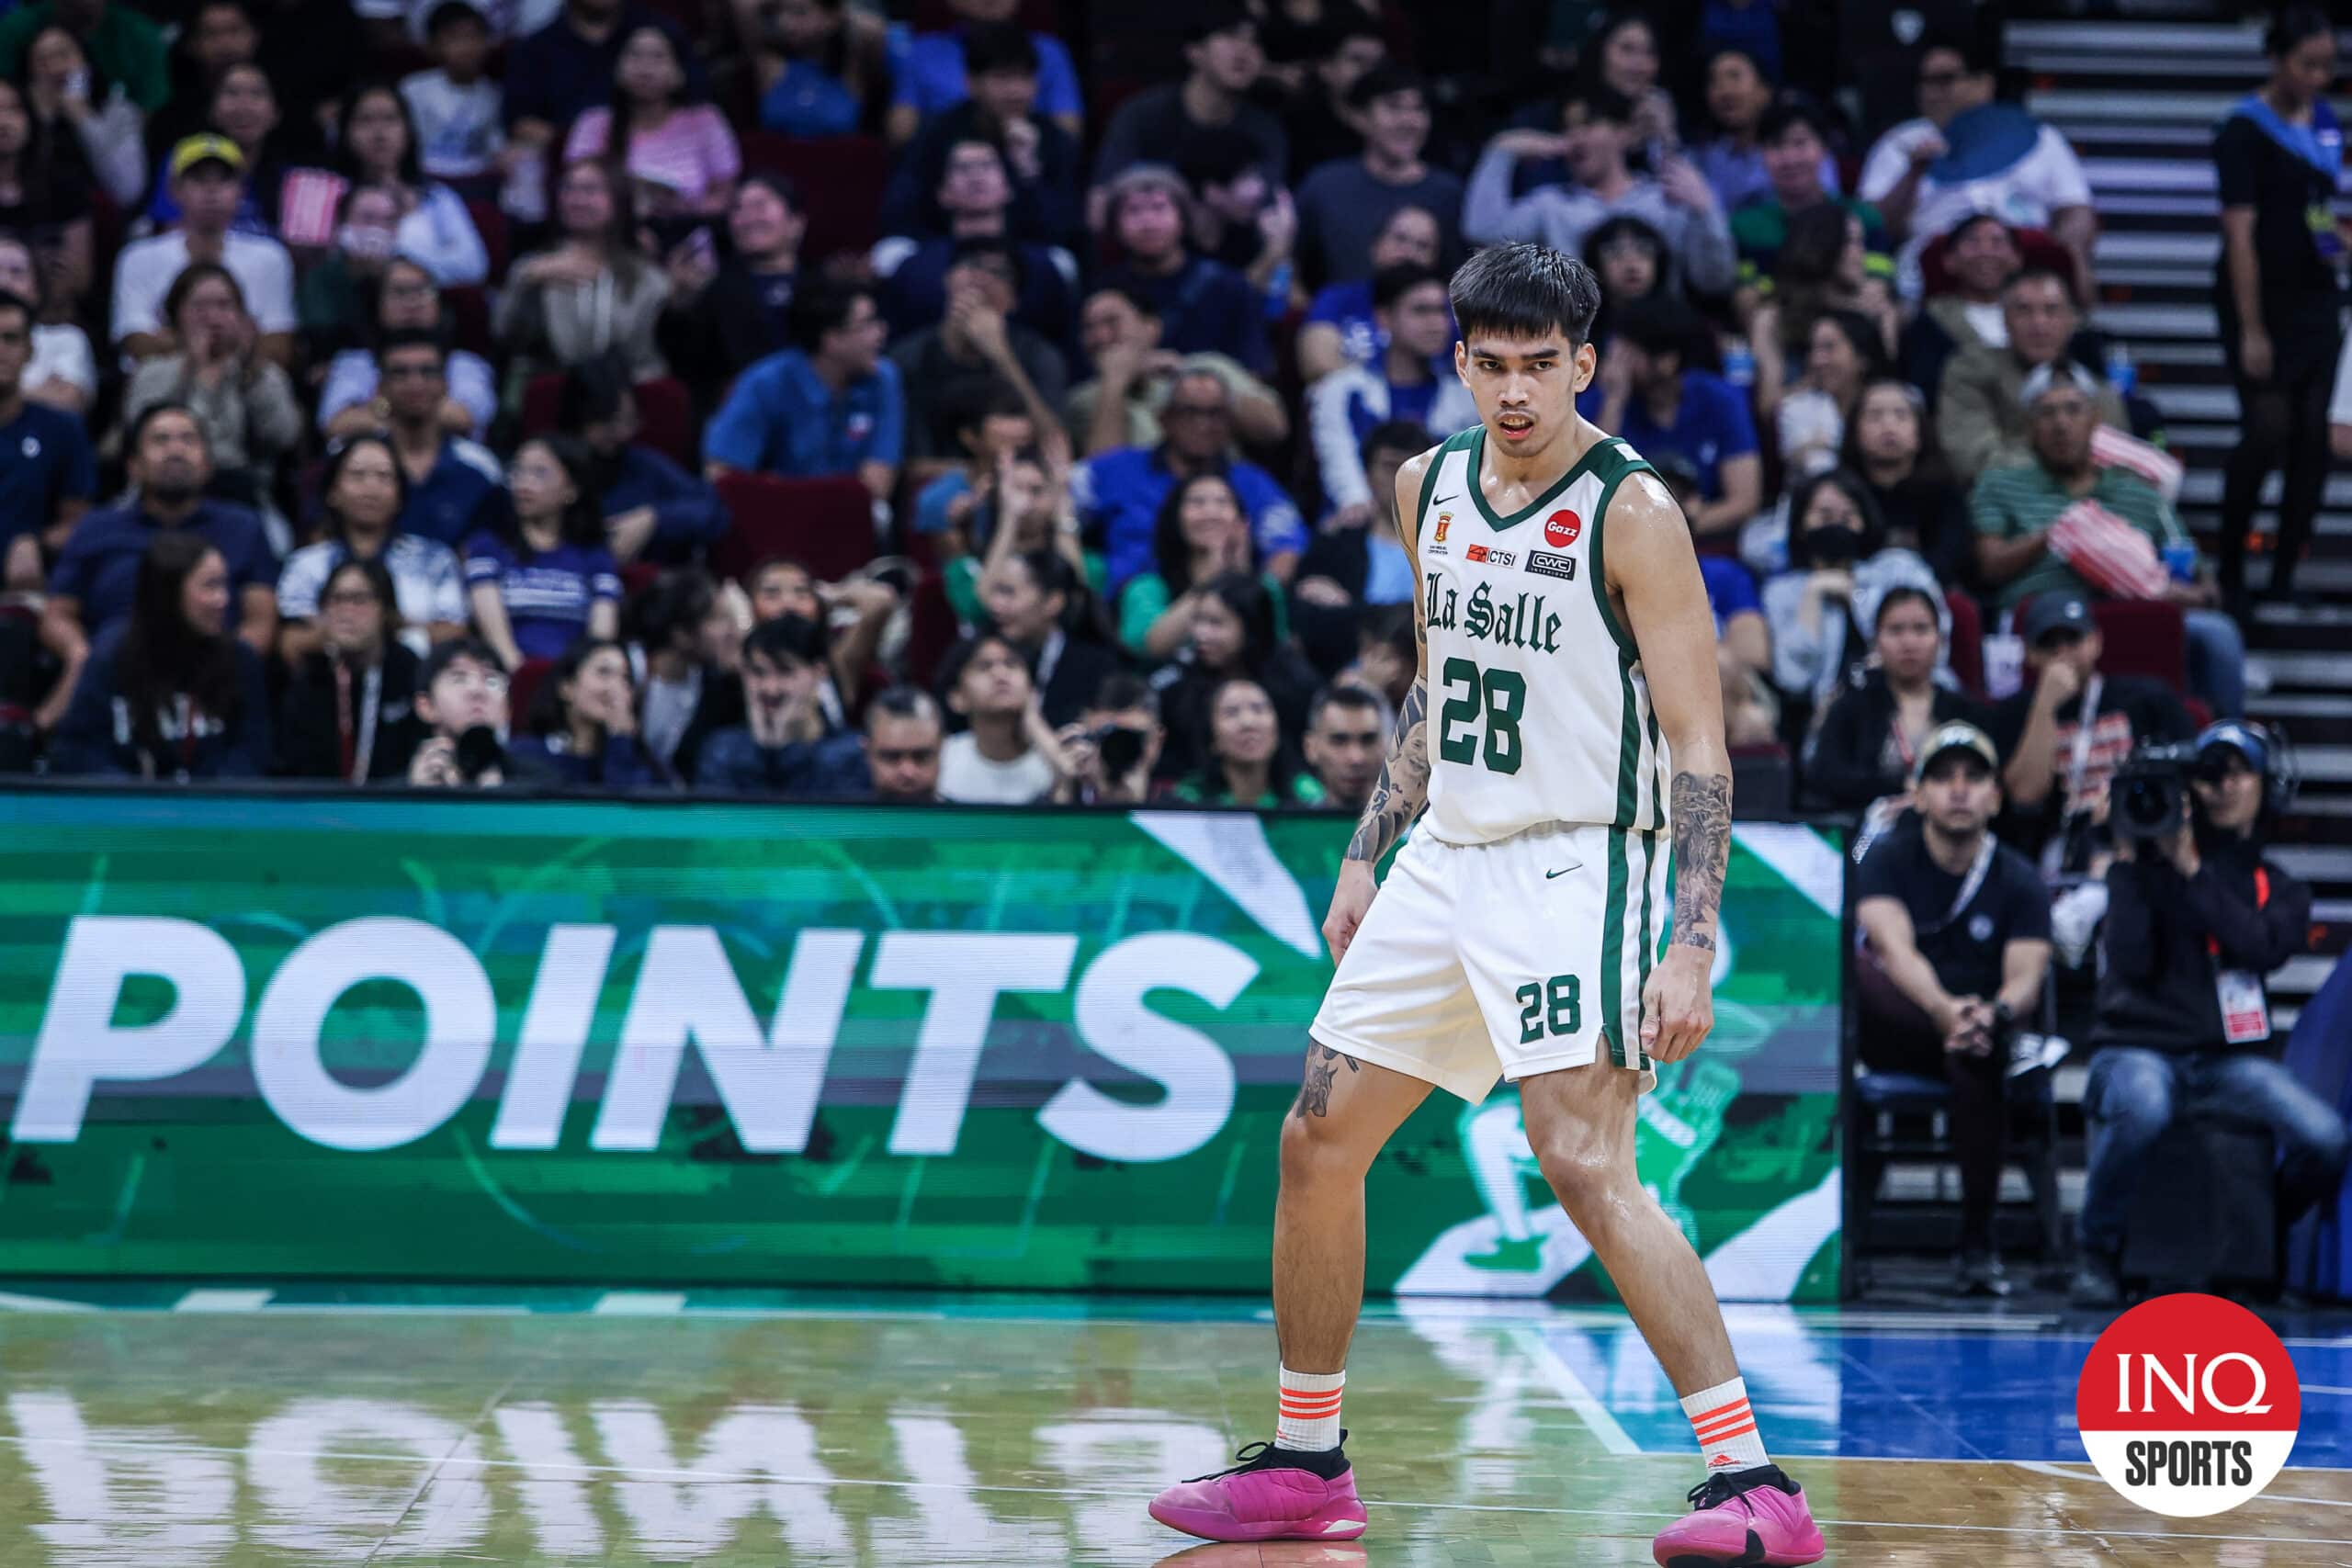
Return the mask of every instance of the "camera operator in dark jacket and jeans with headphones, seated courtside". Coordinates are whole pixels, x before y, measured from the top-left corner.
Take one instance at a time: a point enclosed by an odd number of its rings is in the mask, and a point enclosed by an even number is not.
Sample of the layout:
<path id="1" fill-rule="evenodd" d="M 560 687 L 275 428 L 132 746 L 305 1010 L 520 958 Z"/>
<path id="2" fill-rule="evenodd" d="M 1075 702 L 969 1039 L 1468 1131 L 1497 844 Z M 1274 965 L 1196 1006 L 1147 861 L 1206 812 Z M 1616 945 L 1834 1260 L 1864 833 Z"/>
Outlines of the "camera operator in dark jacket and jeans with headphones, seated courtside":
<path id="1" fill-rule="evenodd" d="M 2143 748 L 2114 778 L 2077 1305 L 2122 1302 L 2131 1194 L 2180 1114 L 2279 1140 L 2281 1222 L 2343 1180 L 2345 1121 L 2279 1065 L 2263 990 L 2263 976 L 2310 947 L 2312 891 L 2263 856 L 2291 795 L 2279 738 L 2239 722 L 2192 745 Z"/>

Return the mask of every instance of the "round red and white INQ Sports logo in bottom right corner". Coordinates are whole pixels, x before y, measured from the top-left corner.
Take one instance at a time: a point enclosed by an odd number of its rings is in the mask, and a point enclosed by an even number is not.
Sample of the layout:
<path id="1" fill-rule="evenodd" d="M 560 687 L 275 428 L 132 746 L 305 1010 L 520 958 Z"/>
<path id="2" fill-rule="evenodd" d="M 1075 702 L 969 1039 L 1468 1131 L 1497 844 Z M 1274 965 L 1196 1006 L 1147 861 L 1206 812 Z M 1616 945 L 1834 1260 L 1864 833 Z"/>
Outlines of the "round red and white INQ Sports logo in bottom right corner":
<path id="1" fill-rule="evenodd" d="M 2296 1363 L 2263 1319 L 2218 1295 L 2159 1295 L 2098 1335 L 2074 1385 L 2098 1474 L 2166 1519 L 2260 1495 L 2296 1446 Z"/>

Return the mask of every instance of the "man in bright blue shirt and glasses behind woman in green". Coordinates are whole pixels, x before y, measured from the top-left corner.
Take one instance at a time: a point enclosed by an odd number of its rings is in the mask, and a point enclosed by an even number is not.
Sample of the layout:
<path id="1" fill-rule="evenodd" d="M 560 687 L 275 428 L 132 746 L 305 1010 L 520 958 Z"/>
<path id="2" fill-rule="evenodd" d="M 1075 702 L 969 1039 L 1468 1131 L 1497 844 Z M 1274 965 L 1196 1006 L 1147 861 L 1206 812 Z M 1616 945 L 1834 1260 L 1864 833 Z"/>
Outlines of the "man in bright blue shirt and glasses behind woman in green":
<path id="1" fill-rule="evenodd" d="M 1275 475 L 1232 456 L 1232 393 L 1225 383 L 1207 371 L 1185 371 L 1160 421 L 1167 428 L 1162 444 L 1117 447 L 1070 473 L 1077 515 L 1103 548 L 1105 595 L 1117 597 L 1127 578 L 1150 571 L 1160 503 L 1178 480 L 1200 473 L 1225 475 L 1249 510 L 1258 564 L 1277 583 L 1289 583 L 1298 552 L 1308 548 L 1308 529 Z"/>

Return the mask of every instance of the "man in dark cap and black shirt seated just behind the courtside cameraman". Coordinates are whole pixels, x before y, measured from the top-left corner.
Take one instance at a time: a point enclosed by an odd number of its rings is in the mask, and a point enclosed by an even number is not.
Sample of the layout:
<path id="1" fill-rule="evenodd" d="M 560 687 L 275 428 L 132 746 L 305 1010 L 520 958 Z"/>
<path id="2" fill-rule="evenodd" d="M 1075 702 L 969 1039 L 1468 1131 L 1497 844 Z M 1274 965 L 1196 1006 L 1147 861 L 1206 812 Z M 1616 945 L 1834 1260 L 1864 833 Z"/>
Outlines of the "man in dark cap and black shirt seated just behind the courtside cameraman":
<path id="1" fill-rule="evenodd" d="M 2009 759 L 2002 837 L 2039 860 L 2046 877 L 2089 870 L 2114 764 L 2147 741 L 2187 741 L 2197 726 L 2164 682 L 2098 672 L 2105 644 L 2082 595 L 2034 595 L 2018 632 L 2027 684 L 1985 724 Z"/>

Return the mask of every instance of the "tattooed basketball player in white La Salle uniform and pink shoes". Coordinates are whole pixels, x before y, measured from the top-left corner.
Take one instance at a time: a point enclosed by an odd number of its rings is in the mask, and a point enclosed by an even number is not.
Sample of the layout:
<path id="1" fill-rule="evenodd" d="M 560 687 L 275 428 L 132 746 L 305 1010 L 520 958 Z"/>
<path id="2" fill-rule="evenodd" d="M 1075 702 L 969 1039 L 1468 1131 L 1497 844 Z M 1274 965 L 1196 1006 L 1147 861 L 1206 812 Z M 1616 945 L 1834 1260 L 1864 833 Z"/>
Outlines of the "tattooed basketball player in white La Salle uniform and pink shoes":
<path id="1" fill-rule="evenodd" d="M 1675 1380 L 1705 1460 L 1656 1559 L 1813 1563 L 1820 1530 L 1764 1453 L 1698 1253 L 1635 1173 L 1651 1063 L 1691 1056 L 1715 1025 L 1731 842 L 1691 531 L 1649 463 L 1576 414 L 1599 306 L 1583 263 L 1503 244 L 1451 294 L 1454 367 L 1479 423 L 1397 475 L 1421 672 L 1324 917 L 1338 976 L 1282 1124 L 1275 1441 L 1150 1512 L 1207 1540 L 1364 1533 L 1338 1425 L 1364 1173 L 1432 1086 L 1477 1103 L 1510 1077 L 1545 1180 Z M 1376 889 L 1371 867 L 1423 806 Z"/>

